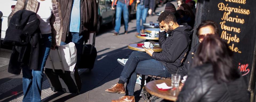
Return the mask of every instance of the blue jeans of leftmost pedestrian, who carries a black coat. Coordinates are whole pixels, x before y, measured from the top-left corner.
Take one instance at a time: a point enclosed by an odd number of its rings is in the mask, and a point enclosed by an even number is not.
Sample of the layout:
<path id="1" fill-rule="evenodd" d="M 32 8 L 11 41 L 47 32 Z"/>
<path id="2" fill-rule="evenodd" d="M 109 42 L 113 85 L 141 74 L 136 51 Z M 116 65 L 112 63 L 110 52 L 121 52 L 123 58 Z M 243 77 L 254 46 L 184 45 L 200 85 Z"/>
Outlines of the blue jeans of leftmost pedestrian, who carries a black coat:
<path id="1" fill-rule="evenodd" d="M 38 67 L 40 70 L 30 70 L 23 65 L 23 102 L 40 102 L 43 82 L 43 71 L 51 49 L 51 34 L 43 34 L 39 40 Z"/>

